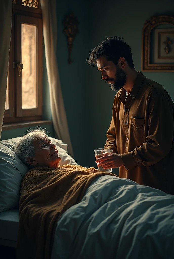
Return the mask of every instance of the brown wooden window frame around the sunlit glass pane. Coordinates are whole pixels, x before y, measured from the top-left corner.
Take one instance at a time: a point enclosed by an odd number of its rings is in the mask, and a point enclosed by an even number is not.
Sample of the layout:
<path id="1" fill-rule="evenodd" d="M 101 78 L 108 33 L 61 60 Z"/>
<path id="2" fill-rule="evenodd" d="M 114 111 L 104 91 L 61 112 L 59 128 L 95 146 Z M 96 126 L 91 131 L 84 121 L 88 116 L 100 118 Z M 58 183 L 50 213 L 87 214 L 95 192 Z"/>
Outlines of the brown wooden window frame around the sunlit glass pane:
<path id="1" fill-rule="evenodd" d="M 27 22 L 28 21 L 28 22 Z M 17 63 L 21 62 L 21 27 L 19 23 L 37 25 L 37 108 L 21 108 L 21 77 L 18 76 Z M 20 60 L 19 60 L 20 57 Z M 36 121 L 42 119 L 43 110 L 43 26 L 42 12 L 39 8 L 21 5 L 21 0 L 13 4 L 12 32 L 9 53 L 9 109 L 4 111 L 3 124 Z"/>

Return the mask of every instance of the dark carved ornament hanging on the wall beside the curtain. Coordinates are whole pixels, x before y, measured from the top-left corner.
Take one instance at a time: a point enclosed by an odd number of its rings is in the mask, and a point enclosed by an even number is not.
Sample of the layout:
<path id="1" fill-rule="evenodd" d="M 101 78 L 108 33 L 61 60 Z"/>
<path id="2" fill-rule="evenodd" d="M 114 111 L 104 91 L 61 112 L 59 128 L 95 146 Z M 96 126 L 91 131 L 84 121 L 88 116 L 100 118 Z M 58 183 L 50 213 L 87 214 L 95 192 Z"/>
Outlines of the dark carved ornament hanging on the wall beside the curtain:
<path id="1" fill-rule="evenodd" d="M 76 35 L 79 33 L 78 30 L 78 20 L 76 17 L 74 17 L 74 12 L 72 12 L 69 16 L 66 16 L 63 25 L 65 26 L 64 28 L 64 34 L 67 36 L 67 42 L 68 42 L 68 52 L 69 52 L 69 57 L 68 57 L 68 63 L 71 64 L 74 62 L 74 60 L 71 60 L 71 51 L 72 51 L 72 46 L 74 39 Z"/>

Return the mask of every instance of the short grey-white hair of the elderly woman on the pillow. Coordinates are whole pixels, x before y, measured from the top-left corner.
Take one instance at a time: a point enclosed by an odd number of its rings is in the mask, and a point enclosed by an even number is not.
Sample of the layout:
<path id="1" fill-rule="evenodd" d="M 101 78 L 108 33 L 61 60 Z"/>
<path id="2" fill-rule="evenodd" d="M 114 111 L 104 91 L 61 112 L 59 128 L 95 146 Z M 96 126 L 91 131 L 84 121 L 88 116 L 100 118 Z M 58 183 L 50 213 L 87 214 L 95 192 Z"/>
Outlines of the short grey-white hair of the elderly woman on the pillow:
<path id="1" fill-rule="evenodd" d="M 46 135 L 46 130 L 38 127 L 34 130 L 27 131 L 27 133 L 19 139 L 19 142 L 15 147 L 15 153 L 29 169 L 32 169 L 34 166 L 27 163 L 27 158 L 35 156 L 33 141 L 37 136 L 48 137 L 48 135 Z"/>

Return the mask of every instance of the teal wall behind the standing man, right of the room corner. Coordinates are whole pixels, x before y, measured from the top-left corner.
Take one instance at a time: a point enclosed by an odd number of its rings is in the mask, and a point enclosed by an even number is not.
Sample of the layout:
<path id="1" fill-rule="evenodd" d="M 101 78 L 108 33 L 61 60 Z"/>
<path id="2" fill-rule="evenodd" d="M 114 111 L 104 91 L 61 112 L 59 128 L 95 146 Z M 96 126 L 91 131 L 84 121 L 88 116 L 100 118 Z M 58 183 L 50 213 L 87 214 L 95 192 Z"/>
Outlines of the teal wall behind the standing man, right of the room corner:
<path id="1" fill-rule="evenodd" d="M 135 69 L 141 71 L 141 35 L 143 24 L 151 16 L 173 15 L 174 1 L 162 0 L 125 0 L 125 1 L 91 1 L 90 41 L 88 52 L 105 38 L 120 36 L 130 45 Z M 143 72 L 143 74 L 160 83 L 174 100 L 174 73 Z M 106 141 L 106 132 L 112 118 L 112 105 L 116 92 L 101 79 L 97 67 L 88 68 L 86 98 L 88 109 L 88 150 L 89 166 L 96 166 L 93 149 L 101 148 Z M 91 126 L 92 125 L 92 126 Z M 116 170 L 117 171 L 117 170 Z"/>

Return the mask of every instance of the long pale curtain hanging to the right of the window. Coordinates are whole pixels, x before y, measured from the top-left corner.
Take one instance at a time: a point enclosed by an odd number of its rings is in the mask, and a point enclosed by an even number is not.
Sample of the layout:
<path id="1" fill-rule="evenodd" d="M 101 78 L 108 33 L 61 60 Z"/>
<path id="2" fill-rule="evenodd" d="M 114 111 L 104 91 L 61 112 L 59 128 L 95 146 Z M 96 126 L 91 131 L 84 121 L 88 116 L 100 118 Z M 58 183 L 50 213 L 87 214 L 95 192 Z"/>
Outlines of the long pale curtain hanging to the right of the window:
<path id="1" fill-rule="evenodd" d="M 55 133 L 64 144 L 68 144 L 68 153 L 73 157 L 68 131 L 67 118 L 63 103 L 59 70 L 56 59 L 57 16 L 56 0 L 41 0 L 46 67 L 48 74 L 50 105 Z"/>

